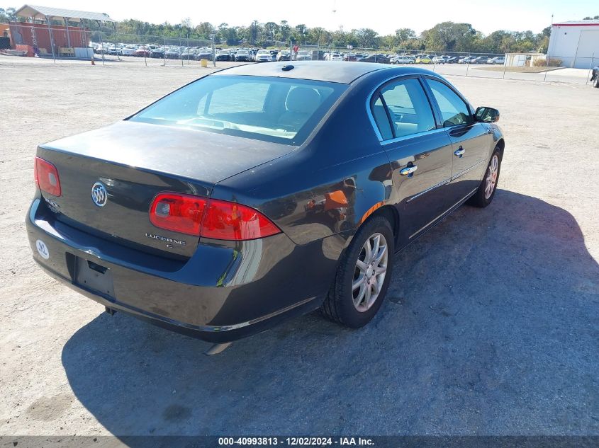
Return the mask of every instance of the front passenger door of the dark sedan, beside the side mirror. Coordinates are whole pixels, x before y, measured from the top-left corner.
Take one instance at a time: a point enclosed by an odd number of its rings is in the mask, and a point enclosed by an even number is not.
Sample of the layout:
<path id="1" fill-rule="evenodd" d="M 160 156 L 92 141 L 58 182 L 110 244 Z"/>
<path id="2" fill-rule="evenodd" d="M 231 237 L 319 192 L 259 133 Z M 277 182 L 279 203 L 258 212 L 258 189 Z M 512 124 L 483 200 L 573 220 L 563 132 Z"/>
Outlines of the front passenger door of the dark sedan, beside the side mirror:
<path id="1" fill-rule="evenodd" d="M 444 81 L 426 78 L 437 115 L 452 141 L 452 176 L 449 190 L 457 203 L 481 183 L 493 135 L 490 127 L 474 120 L 474 111 L 459 93 Z"/>

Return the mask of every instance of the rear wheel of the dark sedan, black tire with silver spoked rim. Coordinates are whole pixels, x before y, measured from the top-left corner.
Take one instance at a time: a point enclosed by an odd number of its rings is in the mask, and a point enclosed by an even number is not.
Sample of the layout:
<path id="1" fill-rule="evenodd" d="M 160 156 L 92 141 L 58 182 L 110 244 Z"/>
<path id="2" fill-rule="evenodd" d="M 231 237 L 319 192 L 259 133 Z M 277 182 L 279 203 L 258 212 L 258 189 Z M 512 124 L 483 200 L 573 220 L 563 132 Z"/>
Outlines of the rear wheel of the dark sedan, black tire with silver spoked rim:
<path id="1" fill-rule="evenodd" d="M 377 239 L 378 262 L 372 251 L 377 247 Z M 366 250 L 366 243 L 372 255 Z M 349 328 L 360 328 L 369 323 L 384 301 L 393 272 L 394 253 L 393 230 L 388 220 L 375 216 L 366 221 L 340 259 L 335 281 L 320 307 L 322 314 L 330 321 Z M 377 266 L 378 270 L 375 269 Z M 385 269 L 384 272 L 381 268 Z M 379 292 L 373 297 L 376 289 Z"/>

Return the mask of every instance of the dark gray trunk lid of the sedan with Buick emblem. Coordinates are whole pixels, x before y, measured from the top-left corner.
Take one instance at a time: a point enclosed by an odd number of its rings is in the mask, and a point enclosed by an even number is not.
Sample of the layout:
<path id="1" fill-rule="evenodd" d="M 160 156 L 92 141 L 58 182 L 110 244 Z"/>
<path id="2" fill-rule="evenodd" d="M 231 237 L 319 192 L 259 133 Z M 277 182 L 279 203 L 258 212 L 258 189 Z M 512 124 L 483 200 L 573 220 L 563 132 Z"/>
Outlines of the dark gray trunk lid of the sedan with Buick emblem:
<path id="1" fill-rule="evenodd" d="M 38 148 L 53 163 L 62 195 L 42 193 L 57 219 L 125 245 L 189 257 L 198 237 L 159 229 L 149 209 L 157 193 L 208 197 L 215 183 L 292 151 L 283 144 L 177 127 L 118 122 Z M 94 203 L 101 183 L 108 200 Z"/>

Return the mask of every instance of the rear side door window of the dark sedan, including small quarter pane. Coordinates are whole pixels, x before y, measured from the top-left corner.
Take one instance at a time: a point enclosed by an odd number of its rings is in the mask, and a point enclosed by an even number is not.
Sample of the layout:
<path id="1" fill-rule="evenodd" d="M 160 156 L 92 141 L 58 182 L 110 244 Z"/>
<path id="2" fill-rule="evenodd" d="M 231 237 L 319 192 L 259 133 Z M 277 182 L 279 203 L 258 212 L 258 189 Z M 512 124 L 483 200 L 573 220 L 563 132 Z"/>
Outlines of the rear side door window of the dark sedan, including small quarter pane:
<path id="1" fill-rule="evenodd" d="M 386 108 L 386 117 L 377 110 L 378 104 L 383 112 Z M 379 100 L 373 105 L 372 113 L 384 140 L 420 134 L 436 127 L 430 103 L 420 82 L 414 78 L 391 82 L 384 86 Z M 379 123 L 383 118 L 386 118 L 386 123 L 391 126 L 391 135 L 384 132 L 384 123 Z"/>

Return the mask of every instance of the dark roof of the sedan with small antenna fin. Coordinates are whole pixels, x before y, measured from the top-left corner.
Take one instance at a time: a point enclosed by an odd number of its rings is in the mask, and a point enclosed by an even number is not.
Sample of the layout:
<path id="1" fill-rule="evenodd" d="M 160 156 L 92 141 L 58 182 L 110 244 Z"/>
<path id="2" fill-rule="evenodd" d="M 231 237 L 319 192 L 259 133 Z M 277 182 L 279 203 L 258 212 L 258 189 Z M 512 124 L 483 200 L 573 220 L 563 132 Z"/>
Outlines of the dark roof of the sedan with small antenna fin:
<path id="1" fill-rule="evenodd" d="M 293 65 L 291 70 L 283 67 Z M 291 61 L 269 62 L 269 64 L 245 64 L 215 72 L 211 76 L 274 76 L 277 78 L 310 79 L 313 81 L 328 81 L 350 84 L 365 74 L 373 71 L 386 70 L 393 75 L 429 74 L 430 71 L 413 67 L 393 67 L 388 64 L 371 62 L 342 62 L 342 61 Z"/>

